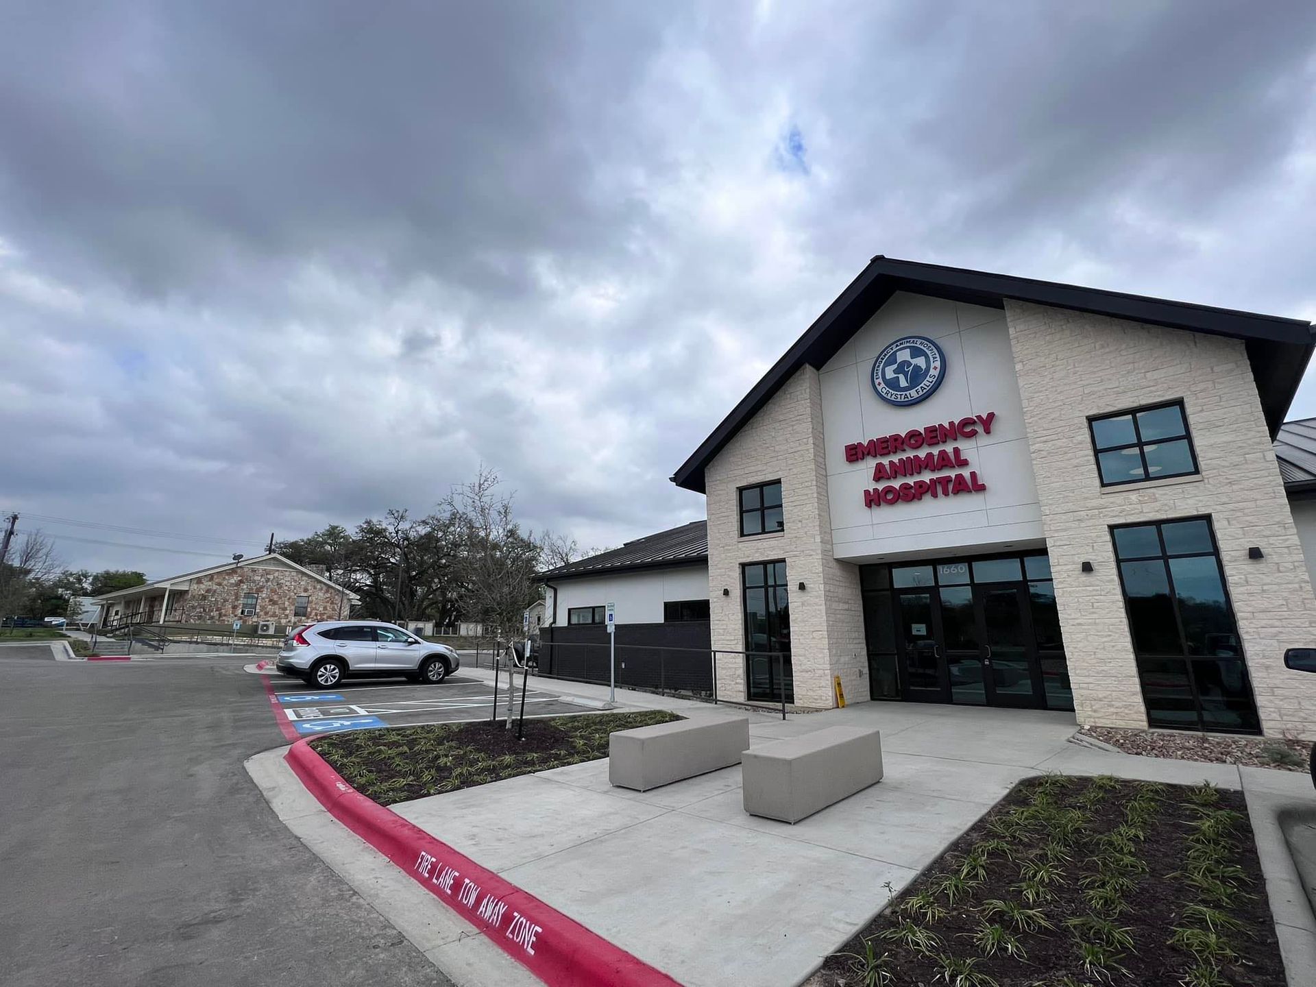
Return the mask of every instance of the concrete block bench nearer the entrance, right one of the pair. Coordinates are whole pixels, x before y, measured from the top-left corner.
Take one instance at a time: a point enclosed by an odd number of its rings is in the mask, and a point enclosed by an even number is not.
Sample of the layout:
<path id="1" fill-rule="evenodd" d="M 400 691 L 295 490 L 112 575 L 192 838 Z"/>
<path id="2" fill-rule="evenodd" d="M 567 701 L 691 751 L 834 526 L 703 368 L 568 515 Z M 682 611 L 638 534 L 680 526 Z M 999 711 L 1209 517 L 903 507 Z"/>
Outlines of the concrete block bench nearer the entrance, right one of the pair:
<path id="1" fill-rule="evenodd" d="M 882 733 L 828 726 L 745 751 L 745 811 L 799 822 L 882 780 Z"/>

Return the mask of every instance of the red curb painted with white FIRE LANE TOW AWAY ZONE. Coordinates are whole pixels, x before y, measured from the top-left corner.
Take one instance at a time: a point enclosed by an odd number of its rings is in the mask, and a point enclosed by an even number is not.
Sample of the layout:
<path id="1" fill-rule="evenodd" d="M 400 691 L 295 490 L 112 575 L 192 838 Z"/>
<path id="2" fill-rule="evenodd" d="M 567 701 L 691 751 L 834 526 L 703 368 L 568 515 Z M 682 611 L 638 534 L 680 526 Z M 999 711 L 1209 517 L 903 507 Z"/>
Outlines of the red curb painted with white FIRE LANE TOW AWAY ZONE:
<path id="1" fill-rule="evenodd" d="M 300 740 L 286 761 L 329 815 L 549 987 L 680 987 L 624 949 L 367 799 Z"/>

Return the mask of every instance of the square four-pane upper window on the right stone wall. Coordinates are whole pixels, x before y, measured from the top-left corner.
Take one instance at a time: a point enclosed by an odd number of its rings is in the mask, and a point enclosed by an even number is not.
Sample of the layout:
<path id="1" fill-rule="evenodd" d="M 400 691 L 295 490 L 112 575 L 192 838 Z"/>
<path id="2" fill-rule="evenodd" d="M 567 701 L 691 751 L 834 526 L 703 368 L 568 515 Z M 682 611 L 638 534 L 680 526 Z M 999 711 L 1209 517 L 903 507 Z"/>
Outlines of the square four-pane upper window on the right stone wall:
<path id="1" fill-rule="evenodd" d="M 1088 418 L 1087 425 L 1103 487 L 1199 472 L 1183 401 Z"/>

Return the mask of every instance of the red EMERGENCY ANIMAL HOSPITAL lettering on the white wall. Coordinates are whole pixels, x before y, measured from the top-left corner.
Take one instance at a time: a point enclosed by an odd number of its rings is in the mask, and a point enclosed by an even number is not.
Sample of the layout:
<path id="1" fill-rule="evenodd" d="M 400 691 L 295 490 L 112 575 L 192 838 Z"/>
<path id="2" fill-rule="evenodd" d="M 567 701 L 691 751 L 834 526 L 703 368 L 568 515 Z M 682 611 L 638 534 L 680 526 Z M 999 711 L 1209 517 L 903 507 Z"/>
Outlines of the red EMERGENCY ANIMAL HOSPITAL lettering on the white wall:
<path id="1" fill-rule="evenodd" d="M 867 442 L 850 442 L 845 447 L 845 461 L 858 463 L 865 459 L 878 459 L 873 466 L 873 482 L 907 479 L 899 483 L 884 483 L 863 491 L 863 505 L 869 508 L 900 501 L 923 500 L 924 497 L 951 497 L 957 494 L 978 494 L 987 484 L 978 479 L 976 470 L 965 472 L 971 466 L 958 445 L 962 438 L 976 438 L 979 433 L 991 434 L 996 422 L 996 412 L 967 415 L 958 421 L 936 422 L 921 429 L 895 432 L 878 436 Z M 934 451 L 916 451 L 930 446 L 946 446 Z M 908 455 L 901 455 L 907 453 Z M 959 470 L 959 472 L 946 472 Z"/>

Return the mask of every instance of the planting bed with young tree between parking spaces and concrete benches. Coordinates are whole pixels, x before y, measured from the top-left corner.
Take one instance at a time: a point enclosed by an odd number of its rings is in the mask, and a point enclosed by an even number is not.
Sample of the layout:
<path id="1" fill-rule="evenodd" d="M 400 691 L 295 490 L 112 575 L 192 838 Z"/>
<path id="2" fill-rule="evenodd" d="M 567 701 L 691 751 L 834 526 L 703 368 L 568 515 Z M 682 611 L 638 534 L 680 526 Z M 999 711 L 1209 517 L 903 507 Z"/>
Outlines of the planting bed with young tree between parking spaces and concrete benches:
<path id="1" fill-rule="evenodd" d="M 682 717 L 662 709 L 526 720 L 525 740 L 503 722 L 349 730 L 312 741 L 353 788 L 382 805 L 608 757 L 615 730 Z"/>

